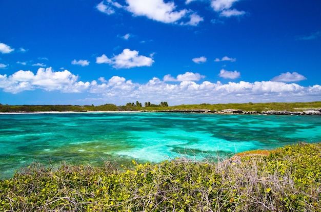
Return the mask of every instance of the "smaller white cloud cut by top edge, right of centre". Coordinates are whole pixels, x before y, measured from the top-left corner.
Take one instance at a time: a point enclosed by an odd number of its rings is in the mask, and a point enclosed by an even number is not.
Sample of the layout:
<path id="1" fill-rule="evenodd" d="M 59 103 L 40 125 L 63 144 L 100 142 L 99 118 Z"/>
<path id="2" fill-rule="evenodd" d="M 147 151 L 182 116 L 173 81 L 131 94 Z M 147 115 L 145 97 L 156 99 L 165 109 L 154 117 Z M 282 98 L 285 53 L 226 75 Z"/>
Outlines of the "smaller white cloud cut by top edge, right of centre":
<path id="1" fill-rule="evenodd" d="M 211 6 L 215 12 L 219 12 L 220 16 L 230 17 L 237 15 L 244 15 L 244 11 L 238 11 L 236 9 L 230 9 L 235 2 L 239 0 L 212 0 Z"/>

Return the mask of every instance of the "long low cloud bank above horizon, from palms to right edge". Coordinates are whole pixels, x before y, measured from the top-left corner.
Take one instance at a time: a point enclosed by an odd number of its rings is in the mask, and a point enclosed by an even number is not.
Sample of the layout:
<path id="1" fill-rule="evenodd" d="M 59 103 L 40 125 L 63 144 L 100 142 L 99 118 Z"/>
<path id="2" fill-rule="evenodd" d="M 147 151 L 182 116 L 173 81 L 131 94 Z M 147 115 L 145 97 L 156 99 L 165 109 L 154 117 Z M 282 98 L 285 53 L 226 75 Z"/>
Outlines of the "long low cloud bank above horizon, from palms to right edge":
<path id="1" fill-rule="evenodd" d="M 110 79 L 111 80 L 111 79 Z M 111 80 L 115 85 L 96 84 L 90 92 L 101 93 L 108 100 L 114 101 L 168 101 L 171 105 L 195 103 L 231 103 L 231 102 L 275 102 L 275 101 L 313 101 L 321 94 L 321 86 L 302 87 L 284 82 L 229 82 L 223 84 L 204 81 L 182 81 L 169 84 L 157 77 L 147 83 L 132 83 L 123 77 Z"/>

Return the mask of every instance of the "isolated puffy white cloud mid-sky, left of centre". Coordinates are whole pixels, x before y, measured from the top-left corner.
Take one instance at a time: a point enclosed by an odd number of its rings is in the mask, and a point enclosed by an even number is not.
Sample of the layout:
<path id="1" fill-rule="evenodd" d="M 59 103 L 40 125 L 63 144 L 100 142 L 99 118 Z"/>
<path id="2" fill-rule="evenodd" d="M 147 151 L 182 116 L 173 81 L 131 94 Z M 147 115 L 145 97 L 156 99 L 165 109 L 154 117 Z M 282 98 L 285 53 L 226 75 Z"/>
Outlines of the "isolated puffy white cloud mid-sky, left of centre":
<path id="1" fill-rule="evenodd" d="M 115 69 L 129 69 L 134 67 L 152 66 L 154 60 L 151 57 L 138 55 L 138 51 L 124 49 L 121 54 L 108 58 L 105 54 L 96 57 L 96 63 L 108 63 Z"/>

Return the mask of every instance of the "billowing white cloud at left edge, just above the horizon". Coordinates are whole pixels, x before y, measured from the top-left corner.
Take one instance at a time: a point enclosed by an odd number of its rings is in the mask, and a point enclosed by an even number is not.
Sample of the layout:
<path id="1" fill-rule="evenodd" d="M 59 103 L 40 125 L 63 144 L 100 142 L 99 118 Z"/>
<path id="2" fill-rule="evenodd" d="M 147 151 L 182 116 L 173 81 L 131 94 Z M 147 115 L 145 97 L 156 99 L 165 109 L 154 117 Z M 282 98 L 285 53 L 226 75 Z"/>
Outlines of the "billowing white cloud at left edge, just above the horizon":
<path id="1" fill-rule="evenodd" d="M 51 67 L 39 68 L 36 74 L 20 70 L 9 77 L 0 75 L 0 88 L 3 88 L 5 92 L 16 94 L 35 89 L 79 93 L 89 87 L 89 82 L 77 81 L 77 79 L 77 76 L 67 70 L 54 72 Z"/>

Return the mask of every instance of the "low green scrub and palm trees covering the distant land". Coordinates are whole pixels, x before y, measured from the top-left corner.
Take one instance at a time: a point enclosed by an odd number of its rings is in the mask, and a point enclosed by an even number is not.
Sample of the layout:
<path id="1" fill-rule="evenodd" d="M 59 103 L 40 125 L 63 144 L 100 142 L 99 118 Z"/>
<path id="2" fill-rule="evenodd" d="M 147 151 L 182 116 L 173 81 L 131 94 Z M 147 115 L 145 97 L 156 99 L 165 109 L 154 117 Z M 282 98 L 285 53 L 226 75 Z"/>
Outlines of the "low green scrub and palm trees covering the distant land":
<path id="1" fill-rule="evenodd" d="M 226 109 L 236 109 L 243 111 L 304 111 L 307 109 L 320 109 L 321 101 L 314 102 L 271 102 L 271 103 L 229 103 L 229 104 L 182 104 L 168 107 L 167 101 L 160 104 L 145 102 L 145 107 L 142 103 L 136 101 L 127 103 L 123 106 L 115 104 L 92 105 L 7 105 L 0 104 L 0 112 L 45 112 L 45 111 L 166 111 L 166 110 L 211 110 L 222 111 Z"/>

